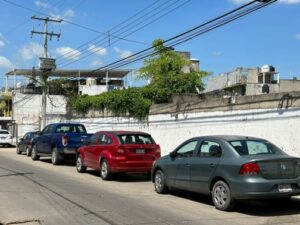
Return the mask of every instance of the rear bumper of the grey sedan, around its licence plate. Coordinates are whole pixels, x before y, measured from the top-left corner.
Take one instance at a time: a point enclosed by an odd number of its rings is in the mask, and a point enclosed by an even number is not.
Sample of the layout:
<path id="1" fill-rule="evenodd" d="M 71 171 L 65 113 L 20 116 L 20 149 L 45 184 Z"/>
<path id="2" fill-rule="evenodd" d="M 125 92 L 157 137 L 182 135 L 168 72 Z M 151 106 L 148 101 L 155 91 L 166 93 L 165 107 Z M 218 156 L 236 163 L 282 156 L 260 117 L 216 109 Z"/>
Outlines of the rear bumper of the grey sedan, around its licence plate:
<path id="1" fill-rule="evenodd" d="M 289 189 L 280 189 L 288 185 Z M 235 199 L 267 199 L 300 195 L 300 178 L 266 180 L 263 178 L 246 178 L 230 184 Z"/>

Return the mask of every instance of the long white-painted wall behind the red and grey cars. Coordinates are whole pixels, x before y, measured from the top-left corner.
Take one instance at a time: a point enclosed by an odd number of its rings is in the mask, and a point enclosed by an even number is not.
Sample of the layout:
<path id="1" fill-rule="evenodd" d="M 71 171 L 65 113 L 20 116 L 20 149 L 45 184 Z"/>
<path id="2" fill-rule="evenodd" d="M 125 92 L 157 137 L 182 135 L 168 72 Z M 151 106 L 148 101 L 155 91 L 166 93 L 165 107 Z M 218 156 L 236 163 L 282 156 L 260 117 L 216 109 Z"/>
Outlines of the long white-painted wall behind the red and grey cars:
<path id="1" fill-rule="evenodd" d="M 77 119 L 88 132 L 99 130 L 139 130 L 152 134 L 161 145 L 162 155 L 168 154 L 184 140 L 202 135 L 246 135 L 268 139 L 291 155 L 300 156 L 300 109 L 241 110 L 202 112 L 149 117 L 148 124 L 132 119 Z"/>

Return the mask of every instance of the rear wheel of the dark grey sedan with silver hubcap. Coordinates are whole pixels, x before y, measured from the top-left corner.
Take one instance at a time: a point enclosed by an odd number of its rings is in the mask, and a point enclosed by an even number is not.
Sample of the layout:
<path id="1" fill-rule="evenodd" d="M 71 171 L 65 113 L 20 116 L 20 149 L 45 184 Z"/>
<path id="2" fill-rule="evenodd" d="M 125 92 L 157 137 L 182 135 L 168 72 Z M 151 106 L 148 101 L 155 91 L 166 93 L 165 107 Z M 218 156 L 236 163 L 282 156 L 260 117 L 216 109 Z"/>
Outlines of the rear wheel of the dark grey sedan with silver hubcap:
<path id="1" fill-rule="evenodd" d="M 217 181 L 212 190 L 212 200 L 215 207 L 222 211 L 231 210 L 235 201 L 231 196 L 230 188 L 224 181 Z"/>

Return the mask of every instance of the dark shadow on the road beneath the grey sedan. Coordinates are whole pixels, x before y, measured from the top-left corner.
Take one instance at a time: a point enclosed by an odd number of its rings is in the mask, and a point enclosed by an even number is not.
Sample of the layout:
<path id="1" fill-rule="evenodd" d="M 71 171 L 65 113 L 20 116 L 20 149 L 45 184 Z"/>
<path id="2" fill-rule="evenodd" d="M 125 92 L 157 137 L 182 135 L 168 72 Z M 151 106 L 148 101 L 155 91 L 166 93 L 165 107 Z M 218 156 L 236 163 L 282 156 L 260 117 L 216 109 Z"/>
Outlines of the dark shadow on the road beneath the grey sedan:
<path id="1" fill-rule="evenodd" d="M 210 196 L 181 190 L 171 190 L 171 195 L 213 206 Z M 300 214 L 300 199 L 268 199 L 238 201 L 233 212 L 251 216 L 272 217 Z"/>

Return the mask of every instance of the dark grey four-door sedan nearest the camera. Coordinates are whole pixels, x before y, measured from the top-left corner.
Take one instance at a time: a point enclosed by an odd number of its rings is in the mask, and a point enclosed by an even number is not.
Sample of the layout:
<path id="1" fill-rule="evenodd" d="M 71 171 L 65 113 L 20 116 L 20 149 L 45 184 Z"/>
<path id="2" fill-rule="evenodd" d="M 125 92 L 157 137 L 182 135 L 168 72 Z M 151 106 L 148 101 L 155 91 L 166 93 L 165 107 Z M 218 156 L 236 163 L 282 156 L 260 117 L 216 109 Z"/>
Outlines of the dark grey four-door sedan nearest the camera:
<path id="1" fill-rule="evenodd" d="M 209 194 L 217 209 L 230 210 L 238 199 L 299 195 L 300 158 L 260 138 L 195 137 L 155 161 L 152 181 L 157 193 Z"/>

